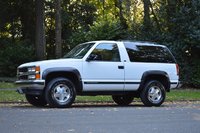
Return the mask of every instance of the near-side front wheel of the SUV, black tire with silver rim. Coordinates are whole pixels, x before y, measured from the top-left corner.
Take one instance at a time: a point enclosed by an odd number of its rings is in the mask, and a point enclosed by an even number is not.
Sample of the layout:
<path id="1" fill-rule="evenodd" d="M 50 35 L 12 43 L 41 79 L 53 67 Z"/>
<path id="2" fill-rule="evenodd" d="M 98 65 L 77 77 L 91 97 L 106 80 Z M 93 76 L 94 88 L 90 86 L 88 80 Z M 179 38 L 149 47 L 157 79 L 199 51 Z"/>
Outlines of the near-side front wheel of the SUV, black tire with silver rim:
<path id="1" fill-rule="evenodd" d="M 47 84 L 45 98 L 50 107 L 70 107 L 76 98 L 74 84 L 67 78 L 52 79 Z"/>

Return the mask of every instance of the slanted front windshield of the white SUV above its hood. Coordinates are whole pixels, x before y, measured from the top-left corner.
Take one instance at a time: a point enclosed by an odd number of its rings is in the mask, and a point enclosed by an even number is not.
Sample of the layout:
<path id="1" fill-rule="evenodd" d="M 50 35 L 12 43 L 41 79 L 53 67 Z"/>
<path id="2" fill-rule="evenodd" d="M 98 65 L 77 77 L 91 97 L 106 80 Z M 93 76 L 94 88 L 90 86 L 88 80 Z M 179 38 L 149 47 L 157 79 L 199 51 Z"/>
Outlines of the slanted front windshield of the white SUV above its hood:
<path id="1" fill-rule="evenodd" d="M 64 58 L 82 59 L 94 43 L 79 44 L 67 53 Z"/>

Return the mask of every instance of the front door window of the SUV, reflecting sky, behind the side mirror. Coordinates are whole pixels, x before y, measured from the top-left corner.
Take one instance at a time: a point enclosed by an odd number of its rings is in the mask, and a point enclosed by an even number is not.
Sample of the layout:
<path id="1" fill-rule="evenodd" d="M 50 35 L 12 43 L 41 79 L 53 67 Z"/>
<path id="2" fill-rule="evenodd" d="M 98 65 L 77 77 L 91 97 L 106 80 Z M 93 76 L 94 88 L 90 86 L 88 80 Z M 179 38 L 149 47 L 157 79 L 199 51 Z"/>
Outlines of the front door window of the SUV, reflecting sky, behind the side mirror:
<path id="1" fill-rule="evenodd" d="M 93 60 L 98 61 L 120 61 L 117 44 L 113 43 L 100 43 L 90 56 L 93 57 Z"/>

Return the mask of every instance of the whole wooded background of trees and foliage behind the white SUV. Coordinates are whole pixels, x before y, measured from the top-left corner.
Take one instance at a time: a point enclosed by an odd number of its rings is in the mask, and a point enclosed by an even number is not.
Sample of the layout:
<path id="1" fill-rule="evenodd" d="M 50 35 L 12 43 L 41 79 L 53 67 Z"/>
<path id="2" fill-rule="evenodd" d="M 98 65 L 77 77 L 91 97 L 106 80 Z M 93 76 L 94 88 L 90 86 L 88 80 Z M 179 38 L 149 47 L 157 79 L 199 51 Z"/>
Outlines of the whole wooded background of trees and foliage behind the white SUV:
<path id="1" fill-rule="evenodd" d="M 0 77 L 93 40 L 166 45 L 184 86 L 200 88 L 200 0 L 0 0 Z"/>

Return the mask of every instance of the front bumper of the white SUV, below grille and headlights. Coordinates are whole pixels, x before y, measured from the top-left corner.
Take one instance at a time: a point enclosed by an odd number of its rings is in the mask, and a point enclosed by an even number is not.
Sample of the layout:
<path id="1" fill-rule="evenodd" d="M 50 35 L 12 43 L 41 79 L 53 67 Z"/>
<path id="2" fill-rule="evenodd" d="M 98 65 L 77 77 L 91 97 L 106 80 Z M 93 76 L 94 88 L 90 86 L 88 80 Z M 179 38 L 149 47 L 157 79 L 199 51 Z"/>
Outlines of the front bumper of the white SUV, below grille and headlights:
<path id="1" fill-rule="evenodd" d="M 16 81 L 17 92 L 20 94 L 41 95 L 45 87 L 45 80 Z"/>

